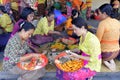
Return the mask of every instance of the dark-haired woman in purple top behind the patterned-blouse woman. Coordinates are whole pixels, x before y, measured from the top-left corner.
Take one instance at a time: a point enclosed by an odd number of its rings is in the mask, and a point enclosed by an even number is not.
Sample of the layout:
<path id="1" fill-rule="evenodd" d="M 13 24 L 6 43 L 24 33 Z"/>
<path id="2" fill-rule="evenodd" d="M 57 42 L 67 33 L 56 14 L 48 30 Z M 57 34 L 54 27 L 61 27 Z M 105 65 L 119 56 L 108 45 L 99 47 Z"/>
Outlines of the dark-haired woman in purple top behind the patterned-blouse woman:
<path id="1" fill-rule="evenodd" d="M 34 10 L 30 7 L 25 7 L 21 13 L 21 19 L 15 23 L 11 36 L 18 32 L 20 26 L 19 23 L 22 21 L 32 22 L 34 18 Z"/>

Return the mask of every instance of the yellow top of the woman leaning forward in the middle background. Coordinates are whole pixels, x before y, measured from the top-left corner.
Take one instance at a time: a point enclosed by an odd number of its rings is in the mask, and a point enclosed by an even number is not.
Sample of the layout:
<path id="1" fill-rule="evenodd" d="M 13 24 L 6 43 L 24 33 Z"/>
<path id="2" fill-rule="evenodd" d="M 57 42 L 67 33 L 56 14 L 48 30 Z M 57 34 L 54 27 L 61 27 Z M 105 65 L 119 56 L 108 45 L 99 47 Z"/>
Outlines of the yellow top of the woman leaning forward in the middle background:
<path id="1" fill-rule="evenodd" d="M 48 34 L 49 31 L 53 31 L 54 30 L 54 20 L 51 22 L 51 26 L 48 26 L 48 20 L 46 17 L 43 17 L 37 24 L 37 27 L 33 33 L 33 35 L 35 34 Z"/>

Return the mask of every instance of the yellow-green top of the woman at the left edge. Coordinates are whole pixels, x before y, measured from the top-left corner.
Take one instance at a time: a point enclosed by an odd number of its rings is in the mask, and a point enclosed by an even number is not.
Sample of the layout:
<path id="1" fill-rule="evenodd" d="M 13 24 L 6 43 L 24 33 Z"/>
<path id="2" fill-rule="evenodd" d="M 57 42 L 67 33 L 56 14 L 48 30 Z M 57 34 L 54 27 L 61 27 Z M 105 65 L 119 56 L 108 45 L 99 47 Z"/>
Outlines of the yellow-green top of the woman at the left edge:
<path id="1" fill-rule="evenodd" d="M 0 26 L 2 28 L 4 28 L 4 30 L 6 32 L 12 32 L 13 30 L 13 24 L 12 24 L 12 20 L 11 18 L 9 17 L 8 14 L 3 14 L 1 17 L 0 17 Z"/>

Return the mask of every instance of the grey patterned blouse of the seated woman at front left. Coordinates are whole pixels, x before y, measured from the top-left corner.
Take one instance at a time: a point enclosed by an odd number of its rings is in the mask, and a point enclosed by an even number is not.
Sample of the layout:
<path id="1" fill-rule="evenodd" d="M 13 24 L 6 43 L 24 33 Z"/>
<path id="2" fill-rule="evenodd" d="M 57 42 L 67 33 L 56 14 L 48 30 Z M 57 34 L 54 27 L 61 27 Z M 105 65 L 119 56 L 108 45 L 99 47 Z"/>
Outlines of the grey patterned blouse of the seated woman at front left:
<path id="1" fill-rule="evenodd" d="M 9 39 L 3 59 L 3 70 L 8 71 L 12 69 L 16 63 L 20 61 L 20 57 L 30 52 L 27 42 L 21 44 L 21 39 L 18 33 L 16 33 L 12 38 Z"/>

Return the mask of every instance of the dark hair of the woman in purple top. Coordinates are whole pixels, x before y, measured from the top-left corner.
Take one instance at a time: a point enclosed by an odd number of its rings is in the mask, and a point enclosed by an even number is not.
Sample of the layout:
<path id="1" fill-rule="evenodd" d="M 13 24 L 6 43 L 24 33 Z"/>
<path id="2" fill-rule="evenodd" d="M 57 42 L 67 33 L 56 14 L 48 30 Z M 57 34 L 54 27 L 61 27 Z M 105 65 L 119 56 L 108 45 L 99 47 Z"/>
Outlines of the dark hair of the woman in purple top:
<path id="1" fill-rule="evenodd" d="M 27 20 L 27 17 L 29 14 L 33 13 L 34 10 L 30 7 L 25 7 L 23 10 L 22 10 L 22 13 L 20 14 L 20 17 L 24 20 Z"/>

